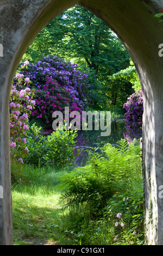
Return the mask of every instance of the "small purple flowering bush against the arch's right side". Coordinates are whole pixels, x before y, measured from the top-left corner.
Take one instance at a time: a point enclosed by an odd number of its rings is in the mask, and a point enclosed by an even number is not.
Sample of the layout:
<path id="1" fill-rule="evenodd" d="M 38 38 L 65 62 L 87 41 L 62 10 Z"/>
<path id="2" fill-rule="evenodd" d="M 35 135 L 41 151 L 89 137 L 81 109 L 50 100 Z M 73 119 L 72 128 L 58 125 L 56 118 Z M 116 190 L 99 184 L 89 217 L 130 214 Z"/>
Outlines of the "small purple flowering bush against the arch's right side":
<path id="1" fill-rule="evenodd" d="M 141 91 L 136 91 L 130 97 L 126 103 L 124 103 L 123 108 L 126 109 L 126 119 L 127 122 L 132 122 L 136 124 L 137 122 L 142 122 L 143 114 L 143 97 Z"/>

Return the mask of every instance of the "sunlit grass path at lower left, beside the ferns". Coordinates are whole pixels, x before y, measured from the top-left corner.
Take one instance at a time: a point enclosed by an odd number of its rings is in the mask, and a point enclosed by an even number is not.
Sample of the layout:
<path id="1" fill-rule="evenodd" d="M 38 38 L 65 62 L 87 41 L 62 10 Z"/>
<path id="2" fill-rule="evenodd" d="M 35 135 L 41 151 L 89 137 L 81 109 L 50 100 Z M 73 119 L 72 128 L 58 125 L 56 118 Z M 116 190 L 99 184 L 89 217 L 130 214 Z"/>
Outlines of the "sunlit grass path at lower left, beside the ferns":
<path id="1" fill-rule="evenodd" d="M 16 172 L 17 171 L 17 172 Z M 12 164 L 14 245 L 68 245 L 58 205 L 57 179 L 67 170 Z"/>

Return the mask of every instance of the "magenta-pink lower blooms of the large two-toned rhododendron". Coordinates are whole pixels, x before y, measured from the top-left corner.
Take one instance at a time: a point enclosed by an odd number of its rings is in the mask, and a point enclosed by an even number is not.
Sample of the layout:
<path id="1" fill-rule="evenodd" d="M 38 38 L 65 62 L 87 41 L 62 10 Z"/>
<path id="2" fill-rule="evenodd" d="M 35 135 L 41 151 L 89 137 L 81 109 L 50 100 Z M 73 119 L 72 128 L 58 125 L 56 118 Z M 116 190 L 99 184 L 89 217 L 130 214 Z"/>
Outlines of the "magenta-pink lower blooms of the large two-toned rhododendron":
<path id="1" fill-rule="evenodd" d="M 71 90 L 58 84 L 53 78 L 46 77 L 47 81 L 43 89 L 37 89 L 35 92 L 36 108 L 31 116 L 41 119 L 42 123 L 52 127 L 54 119 L 52 113 L 56 110 L 65 111 L 65 107 L 69 106 L 71 111 L 83 110 L 83 102 L 70 94 Z"/>

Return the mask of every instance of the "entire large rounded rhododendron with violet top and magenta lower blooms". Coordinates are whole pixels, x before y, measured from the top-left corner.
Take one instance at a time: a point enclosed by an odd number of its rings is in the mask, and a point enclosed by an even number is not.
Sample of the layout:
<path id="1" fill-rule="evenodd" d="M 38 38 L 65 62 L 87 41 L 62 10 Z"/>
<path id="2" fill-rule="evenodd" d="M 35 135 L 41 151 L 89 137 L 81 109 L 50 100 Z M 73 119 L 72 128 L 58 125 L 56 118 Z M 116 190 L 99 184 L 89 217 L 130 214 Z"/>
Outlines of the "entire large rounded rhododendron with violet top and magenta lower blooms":
<path id="1" fill-rule="evenodd" d="M 65 106 L 70 111 L 81 112 L 91 103 L 87 75 L 77 69 L 77 64 L 56 56 L 43 57 L 37 64 L 29 65 L 23 75 L 32 81 L 30 88 L 36 89 L 32 117 L 42 124 L 52 127 L 52 113 L 64 112 Z"/>

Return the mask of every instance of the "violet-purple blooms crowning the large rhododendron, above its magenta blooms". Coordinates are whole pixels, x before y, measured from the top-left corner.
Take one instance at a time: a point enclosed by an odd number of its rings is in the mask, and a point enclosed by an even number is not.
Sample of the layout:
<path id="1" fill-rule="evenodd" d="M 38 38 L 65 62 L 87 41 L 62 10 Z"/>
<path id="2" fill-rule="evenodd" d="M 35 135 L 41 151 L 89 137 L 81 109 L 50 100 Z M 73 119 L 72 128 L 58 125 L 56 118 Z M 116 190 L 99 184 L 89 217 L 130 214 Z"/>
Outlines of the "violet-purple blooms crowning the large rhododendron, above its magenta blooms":
<path id="1" fill-rule="evenodd" d="M 55 80 L 61 87 L 70 90 L 70 94 L 80 101 L 80 107 L 84 108 L 87 90 L 87 75 L 77 69 L 77 64 L 71 64 L 64 59 L 56 56 L 43 57 L 37 64 L 28 66 L 28 70 L 24 70 L 24 77 L 29 77 L 32 81 L 32 87 L 44 89 L 47 76 Z"/>

